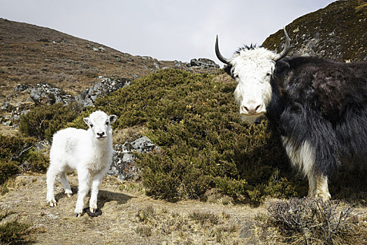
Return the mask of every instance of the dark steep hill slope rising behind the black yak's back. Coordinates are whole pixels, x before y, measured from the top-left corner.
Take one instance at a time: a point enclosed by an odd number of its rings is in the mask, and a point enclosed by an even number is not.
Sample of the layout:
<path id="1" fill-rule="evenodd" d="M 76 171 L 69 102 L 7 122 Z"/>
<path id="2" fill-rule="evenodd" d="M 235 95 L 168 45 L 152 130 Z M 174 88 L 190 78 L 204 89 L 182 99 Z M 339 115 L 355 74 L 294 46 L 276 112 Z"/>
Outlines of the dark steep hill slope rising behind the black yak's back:
<path id="1" fill-rule="evenodd" d="M 335 61 L 367 60 L 367 1 L 335 1 L 286 27 L 291 38 L 288 56 L 317 56 Z M 262 45 L 282 50 L 282 30 Z"/>

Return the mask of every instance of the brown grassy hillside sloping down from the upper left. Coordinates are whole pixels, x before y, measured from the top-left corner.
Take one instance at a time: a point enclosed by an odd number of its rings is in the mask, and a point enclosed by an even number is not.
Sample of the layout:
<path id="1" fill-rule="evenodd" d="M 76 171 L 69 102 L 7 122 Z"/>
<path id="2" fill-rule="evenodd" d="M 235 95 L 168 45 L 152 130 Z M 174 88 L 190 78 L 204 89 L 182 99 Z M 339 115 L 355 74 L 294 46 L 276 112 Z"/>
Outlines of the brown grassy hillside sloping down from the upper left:
<path id="1" fill-rule="evenodd" d="M 8 124 L 12 109 L 30 108 L 32 100 L 29 90 L 25 89 L 36 84 L 48 83 L 75 96 L 98 83 L 99 76 L 133 80 L 166 67 L 194 72 L 217 71 L 214 63 L 189 66 L 176 60 L 133 56 L 60 31 L 2 18 L 0 47 L 0 106 L 9 103 L 0 107 L 0 123 L 4 124 Z M 18 84 L 24 89 L 15 91 Z M 19 106 L 24 102 L 29 103 Z M 9 130 L 10 127 L 0 125 L 1 133 L 7 134 Z"/>

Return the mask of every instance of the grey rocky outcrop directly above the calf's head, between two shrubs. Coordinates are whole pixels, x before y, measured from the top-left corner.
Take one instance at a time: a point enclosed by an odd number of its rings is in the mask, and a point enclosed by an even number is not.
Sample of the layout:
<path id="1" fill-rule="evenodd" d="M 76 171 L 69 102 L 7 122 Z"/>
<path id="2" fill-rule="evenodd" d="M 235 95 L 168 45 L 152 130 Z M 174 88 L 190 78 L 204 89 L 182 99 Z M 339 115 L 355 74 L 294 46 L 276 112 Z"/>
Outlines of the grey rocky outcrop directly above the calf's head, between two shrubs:
<path id="1" fill-rule="evenodd" d="M 75 97 L 76 102 L 80 104 L 82 109 L 87 108 L 87 106 L 94 106 L 94 101 L 98 97 L 102 97 L 106 94 L 110 94 L 122 87 L 130 84 L 131 79 L 128 78 L 103 78 L 101 77 L 101 82 L 96 83 L 87 90 L 84 90 Z"/>

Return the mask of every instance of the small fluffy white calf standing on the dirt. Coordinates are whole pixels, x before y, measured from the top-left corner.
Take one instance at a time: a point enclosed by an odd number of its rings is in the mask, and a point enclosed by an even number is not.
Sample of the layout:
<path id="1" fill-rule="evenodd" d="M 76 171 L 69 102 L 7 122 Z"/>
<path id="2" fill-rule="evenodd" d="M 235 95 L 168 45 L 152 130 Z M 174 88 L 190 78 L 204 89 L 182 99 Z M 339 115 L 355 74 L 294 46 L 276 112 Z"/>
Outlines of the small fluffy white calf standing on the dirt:
<path id="1" fill-rule="evenodd" d="M 54 186 L 56 176 L 64 186 L 65 194 L 73 194 L 65 172 L 75 169 L 78 172 L 78 200 L 75 216 L 82 215 L 84 198 L 89 191 L 89 179 L 92 177 L 89 210 L 97 209 L 97 195 L 101 179 L 108 172 L 112 162 L 113 144 L 111 123 L 117 116 L 108 116 L 103 111 L 95 111 L 84 118 L 88 130 L 78 130 L 73 127 L 60 130 L 52 138 L 50 150 L 50 167 L 47 172 L 47 197 L 50 207 L 56 206 Z"/>

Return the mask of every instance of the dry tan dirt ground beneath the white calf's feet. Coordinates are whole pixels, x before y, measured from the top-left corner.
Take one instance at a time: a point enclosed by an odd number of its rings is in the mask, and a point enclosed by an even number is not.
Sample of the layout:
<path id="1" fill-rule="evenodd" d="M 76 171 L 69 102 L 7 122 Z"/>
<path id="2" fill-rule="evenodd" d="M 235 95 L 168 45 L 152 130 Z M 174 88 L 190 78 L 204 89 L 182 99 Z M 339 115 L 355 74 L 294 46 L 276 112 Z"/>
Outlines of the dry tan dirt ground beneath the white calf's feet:
<path id="1" fill-rule="evenodd" d="M 74 174 L 68 179 L 76 193 L 78 179 Z M 14 212 L 8 221 L 29 223 L 36 230 L 32 244 L 259 244 L 254 222 L 264 207 L 153 200 L 134 184 L 120 190 L 121 182 L 106 176 L 99 192 L 101 216 L 75 218 L 77 195 L 66 197 L 57 181 L 58 205 L 48 207 L 45 180 L 45 174 L 17 176 L 0 197 L 0 211 Z"/>

